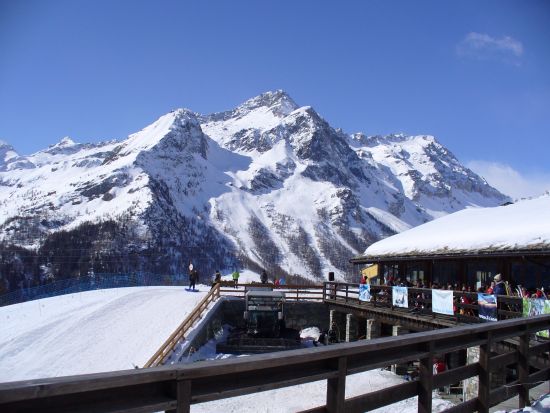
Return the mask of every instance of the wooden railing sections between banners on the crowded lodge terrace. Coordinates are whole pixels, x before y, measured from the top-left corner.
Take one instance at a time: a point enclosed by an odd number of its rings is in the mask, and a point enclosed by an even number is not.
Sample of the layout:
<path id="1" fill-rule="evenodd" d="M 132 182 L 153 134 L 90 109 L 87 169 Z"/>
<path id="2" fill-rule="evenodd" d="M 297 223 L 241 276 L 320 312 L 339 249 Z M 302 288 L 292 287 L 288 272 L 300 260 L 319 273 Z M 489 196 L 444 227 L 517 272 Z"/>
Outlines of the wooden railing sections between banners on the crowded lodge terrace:
<path id="1" fill-rule="evenodd" d="M 349 283 L 327 282 L 324 284 L 323 300 L 337 301 L 343 304 L 361 304 L 372 307 L 385 307 L 399 309 L 392 305 L 392 287 L 386 285 L 371 285 L 372 299 L 369 302 L 359 300 L 359 285 Z M 465 300 L 461 300 L 464 297 Z M 418 314 L 432 313 L 432 290 L 428 288 L 408 288 L 408 309 L 415 310 Z M 454 318 L 457 322 L 479 322 L 479 305 L 477 293 L 453 291 L 455 314 L 443 316 Z M 465 301 L 465 302 L 463 302 Z M 497 314 L 499 320 L 522 317 L 523 301 L 521 297 L 506 295 L 497 296 Z"/>

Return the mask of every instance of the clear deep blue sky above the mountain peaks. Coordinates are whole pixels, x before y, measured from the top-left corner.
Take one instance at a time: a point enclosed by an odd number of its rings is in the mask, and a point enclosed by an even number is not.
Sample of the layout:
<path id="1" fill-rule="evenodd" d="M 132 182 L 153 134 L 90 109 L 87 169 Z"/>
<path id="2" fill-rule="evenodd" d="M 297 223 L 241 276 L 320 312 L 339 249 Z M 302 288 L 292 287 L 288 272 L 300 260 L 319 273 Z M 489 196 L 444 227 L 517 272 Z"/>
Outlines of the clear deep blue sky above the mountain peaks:
<path id="1" fill-rule="evenodd" d="M 0 139 L 20 154 L 273 89 L 550 189 L 550 1 L 0 0 Z"/>

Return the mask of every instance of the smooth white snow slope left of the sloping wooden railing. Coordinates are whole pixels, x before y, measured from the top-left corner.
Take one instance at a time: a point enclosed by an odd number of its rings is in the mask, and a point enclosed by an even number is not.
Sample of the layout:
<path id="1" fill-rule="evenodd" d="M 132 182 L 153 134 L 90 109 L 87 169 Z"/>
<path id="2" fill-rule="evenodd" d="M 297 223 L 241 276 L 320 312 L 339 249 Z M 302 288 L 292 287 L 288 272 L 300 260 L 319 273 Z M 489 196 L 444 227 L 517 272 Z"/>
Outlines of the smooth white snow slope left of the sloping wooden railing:
<path id="1" fill-rule="evenodd" d="M 117 288 L 0 307 L 0 382 L 143 366 L 209 289 Z"/>

